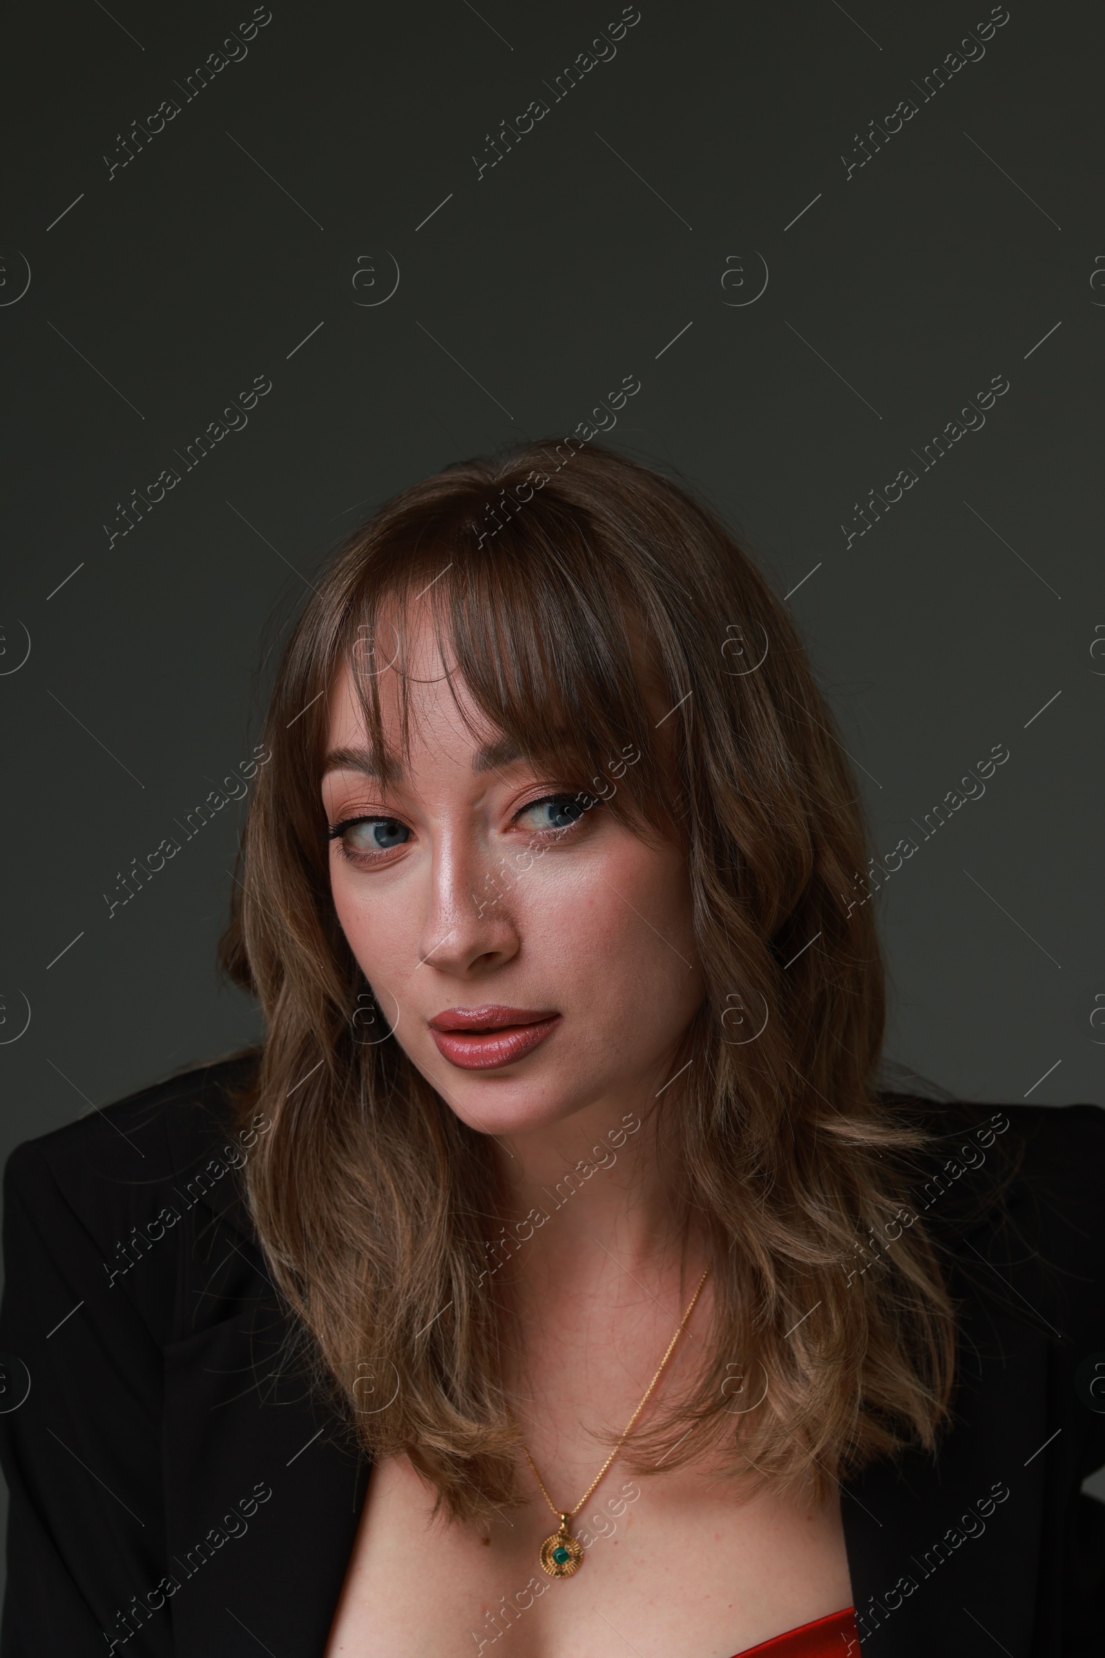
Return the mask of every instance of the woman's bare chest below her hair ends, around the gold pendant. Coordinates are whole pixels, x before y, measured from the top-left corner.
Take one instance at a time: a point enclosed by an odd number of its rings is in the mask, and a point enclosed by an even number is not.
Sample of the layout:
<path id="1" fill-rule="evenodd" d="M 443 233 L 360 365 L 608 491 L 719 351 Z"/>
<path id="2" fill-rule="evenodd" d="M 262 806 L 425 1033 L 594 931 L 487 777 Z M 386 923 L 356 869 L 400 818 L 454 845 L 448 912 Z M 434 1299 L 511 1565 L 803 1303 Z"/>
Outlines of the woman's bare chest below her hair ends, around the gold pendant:
<path id="1" fill-rule="evenodd" d="M 431 1515 L 406 1459 L 373 1471 L 325 1658 L 732 1658 L 852 1603 L 838 1504 L 749 1496 L 694 1469 L 633 1479 L 615 1464 L 572 1522 L 583 1562 L 570 1578 L 540 1567 L 557 1529 L 545 1504 L 490 1535 Z"/>

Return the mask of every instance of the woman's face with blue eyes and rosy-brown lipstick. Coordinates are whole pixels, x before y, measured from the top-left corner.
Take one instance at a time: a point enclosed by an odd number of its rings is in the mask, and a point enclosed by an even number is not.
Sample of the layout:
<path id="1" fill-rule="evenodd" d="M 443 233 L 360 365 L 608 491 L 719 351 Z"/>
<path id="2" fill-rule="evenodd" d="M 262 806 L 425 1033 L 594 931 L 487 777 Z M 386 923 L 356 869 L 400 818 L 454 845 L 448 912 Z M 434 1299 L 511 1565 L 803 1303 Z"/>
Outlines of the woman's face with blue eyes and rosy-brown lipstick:
<path id="1" fill-rule="evenodd" d="M 702 1000 L 683 849 L 644 844 L 603 804 L 581 809 L 572 779 L 514 756 L 457 685 L 474 738 L 429 618 L 406 655 L 409 766 L 388 784 L 373 774 L 346 668 L 323 778 L 328 822 L 341 827 L 335 909 L 384 1020 L 484 1132 L 550 1127 L 590 1106 L 639 1109 Z M 398 756 L 396 671 L 379 685 Z"/>

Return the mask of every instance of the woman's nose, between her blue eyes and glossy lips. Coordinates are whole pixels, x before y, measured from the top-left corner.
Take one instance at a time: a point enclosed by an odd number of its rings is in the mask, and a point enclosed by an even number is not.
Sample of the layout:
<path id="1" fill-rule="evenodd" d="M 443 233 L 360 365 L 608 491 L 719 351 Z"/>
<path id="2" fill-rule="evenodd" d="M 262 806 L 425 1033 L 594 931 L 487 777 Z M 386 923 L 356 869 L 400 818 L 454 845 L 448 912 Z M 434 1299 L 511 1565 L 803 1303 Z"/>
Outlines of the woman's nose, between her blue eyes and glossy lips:
<path id="1" fill-rule="evenodd" d="M 434 847 L 417 965 L 469 978 L 504 967 L 520 948 L 509 865 L 479 839 L 444 836 Z"/>

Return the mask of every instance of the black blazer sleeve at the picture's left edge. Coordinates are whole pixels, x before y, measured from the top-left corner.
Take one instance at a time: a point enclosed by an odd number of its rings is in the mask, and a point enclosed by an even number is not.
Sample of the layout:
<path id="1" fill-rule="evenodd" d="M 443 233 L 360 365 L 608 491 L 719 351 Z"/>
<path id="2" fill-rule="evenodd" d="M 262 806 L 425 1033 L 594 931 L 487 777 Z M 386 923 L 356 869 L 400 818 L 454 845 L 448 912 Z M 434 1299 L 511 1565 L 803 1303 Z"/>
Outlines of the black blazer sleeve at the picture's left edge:
<path id="1" fill-rule="evenodd" d="M 3 1189 L 0 1658 L 104 1658 L 116 1646 L 171 1658 L 164 1592 L 162 1610 L 147 1610 L 166 1547 L 161 1345 L 113 1283 L 111 1245 L 96 1242 L 33 1144 L 10 1156 Z M 128 1617 L 133 1602 L 141 1615 Z"/>

